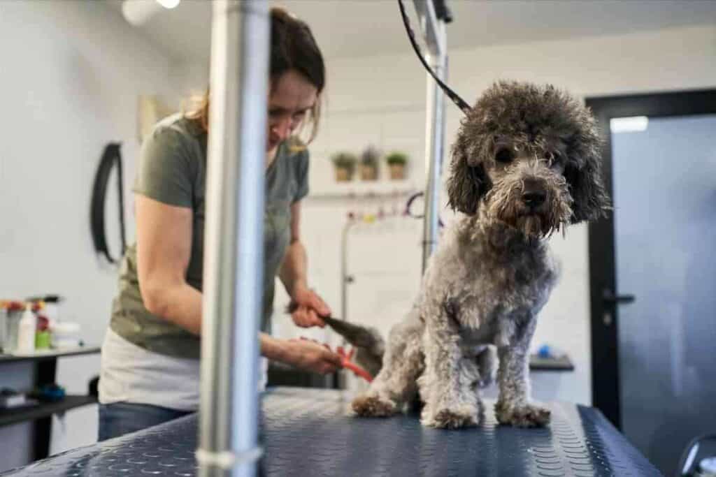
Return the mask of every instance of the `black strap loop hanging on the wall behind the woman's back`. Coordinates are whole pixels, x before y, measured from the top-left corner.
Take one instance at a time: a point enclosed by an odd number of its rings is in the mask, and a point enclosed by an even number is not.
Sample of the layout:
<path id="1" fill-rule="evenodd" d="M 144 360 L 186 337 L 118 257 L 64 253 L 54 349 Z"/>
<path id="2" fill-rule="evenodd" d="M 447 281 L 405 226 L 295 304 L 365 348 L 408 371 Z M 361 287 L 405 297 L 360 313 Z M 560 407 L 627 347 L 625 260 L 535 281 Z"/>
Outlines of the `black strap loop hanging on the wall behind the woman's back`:
<path id="1" fill-rule="evenodd" d="M 110 142 L 102 152 L 100 159 L 100 167 L 97 168 L 95 176 L 95 185 L 92 188 L 92 205 L 89 209 L 89 220 L 92 227 L 92 242 L 95 244 L 95 251 L 102 253 L 107 257 L 110 263 L 116 263 L 110 255 L 107 247 L 107 237 L 105 235 L 105 200 L 107 198 L 107 182 L 110 181 L 112 167 L 117 164 L 117 197 L 120 202 L 120 239 L 122 240 L 122 252 L 120 257 L 124 255 L 127 248 L 125 239 L 125 198 L 122 189 L 122 154 L 120 153 L 120 144 Z"/>

